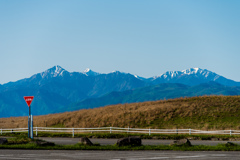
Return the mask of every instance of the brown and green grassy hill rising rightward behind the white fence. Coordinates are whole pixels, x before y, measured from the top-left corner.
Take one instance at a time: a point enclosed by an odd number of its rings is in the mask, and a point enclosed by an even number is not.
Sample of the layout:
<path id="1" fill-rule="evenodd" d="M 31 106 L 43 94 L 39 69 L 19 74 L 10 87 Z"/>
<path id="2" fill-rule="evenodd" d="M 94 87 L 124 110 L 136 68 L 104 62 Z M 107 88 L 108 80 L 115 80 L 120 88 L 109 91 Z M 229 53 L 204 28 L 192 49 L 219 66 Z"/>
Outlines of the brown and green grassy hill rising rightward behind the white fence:
<path id="1" fill-rule="evenodd" d="M 240 96 L 202 96 L 112 105 L 34 116 L 38 127 L 240 129 Z M 27 117 L 1 118 L 0 128 L 27 127 Z"/>

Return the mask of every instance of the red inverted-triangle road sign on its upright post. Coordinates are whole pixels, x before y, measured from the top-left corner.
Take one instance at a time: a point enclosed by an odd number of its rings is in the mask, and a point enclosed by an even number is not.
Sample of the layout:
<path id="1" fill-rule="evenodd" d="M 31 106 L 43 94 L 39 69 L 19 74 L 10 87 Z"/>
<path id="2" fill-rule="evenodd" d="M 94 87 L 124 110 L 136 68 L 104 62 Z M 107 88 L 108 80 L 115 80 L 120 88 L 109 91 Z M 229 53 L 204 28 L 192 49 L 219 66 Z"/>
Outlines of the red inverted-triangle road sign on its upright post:
<path id="1" fill-rule="evenodd" d="M 25 96 L 24 99 L 29 107 L 29 116 L 28 116 L 28 138 L 33 139 L 33 118 L 31 113 L 31 103 L 34 96 Z"/>

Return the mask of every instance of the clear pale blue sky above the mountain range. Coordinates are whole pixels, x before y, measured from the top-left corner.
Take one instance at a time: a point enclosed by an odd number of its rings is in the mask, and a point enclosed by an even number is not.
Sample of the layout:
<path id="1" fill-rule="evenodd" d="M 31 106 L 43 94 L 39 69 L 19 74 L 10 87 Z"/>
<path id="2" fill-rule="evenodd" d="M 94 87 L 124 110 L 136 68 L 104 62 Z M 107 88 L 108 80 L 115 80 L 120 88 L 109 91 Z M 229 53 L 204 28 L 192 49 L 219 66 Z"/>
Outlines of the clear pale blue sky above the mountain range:
<path id="1" fill-rule="evenodd" d="M 55 65 L 240 81 L 239 0 L 0 0 L 0 84 Z"/>

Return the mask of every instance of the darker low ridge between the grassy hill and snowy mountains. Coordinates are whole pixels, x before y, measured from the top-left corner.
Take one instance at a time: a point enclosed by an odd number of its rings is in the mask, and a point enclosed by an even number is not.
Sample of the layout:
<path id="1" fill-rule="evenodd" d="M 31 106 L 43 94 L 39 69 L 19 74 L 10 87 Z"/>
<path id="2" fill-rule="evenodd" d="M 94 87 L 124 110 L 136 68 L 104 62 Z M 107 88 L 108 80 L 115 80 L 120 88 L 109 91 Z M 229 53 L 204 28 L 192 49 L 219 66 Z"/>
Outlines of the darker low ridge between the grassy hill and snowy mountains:
<path id="1" fill-rule="evenodd" d="M 163 83 L 156 86 L 138 88 L 124 92 L 112 92 L 100 98 L 86 99 L 82 102 L 72 104 L 68 109 L 74 111 L 113 104 L 156 101 L 203 95 L 240 95 L 240 87 L 227 87 L 216 82 L 208 82 L 191 87 L 177 83 Z M 64 110 L 61 110 L 61 112 L 63 111 Z"/>

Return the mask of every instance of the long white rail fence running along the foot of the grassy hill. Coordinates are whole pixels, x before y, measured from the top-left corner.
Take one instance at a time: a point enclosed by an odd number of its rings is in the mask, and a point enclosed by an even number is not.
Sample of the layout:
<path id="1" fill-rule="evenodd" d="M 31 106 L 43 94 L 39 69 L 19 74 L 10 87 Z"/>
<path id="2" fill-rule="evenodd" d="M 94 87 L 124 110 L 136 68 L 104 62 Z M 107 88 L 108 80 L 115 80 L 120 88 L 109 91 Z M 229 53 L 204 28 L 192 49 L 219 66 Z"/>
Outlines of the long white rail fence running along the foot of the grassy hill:
<path id="1" fill-rule="evenodd" d="M 75 133 L 94 133 L 94 132 L 123 132 L 123 133 L 143 133 L 143 134 L 228 134 L 237 135 L 240 134 L 240 130 L 217 130 L 217 131 L 203 131 L 196 129 L 142 129 L 142 128 L 119 128 L 119 127 L 99 127 L 99 128 L 50 128 L 50 127 L 34 127 L 33 131 L 36 136 L 38 132 L 61 132 L 71 133 L 74 137 Z M 0 129 L 0 134 L 3 133 L 16 133 L 16 132 L 28 132 L 28 128 L 11 128 Z"/>

